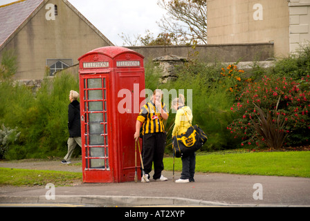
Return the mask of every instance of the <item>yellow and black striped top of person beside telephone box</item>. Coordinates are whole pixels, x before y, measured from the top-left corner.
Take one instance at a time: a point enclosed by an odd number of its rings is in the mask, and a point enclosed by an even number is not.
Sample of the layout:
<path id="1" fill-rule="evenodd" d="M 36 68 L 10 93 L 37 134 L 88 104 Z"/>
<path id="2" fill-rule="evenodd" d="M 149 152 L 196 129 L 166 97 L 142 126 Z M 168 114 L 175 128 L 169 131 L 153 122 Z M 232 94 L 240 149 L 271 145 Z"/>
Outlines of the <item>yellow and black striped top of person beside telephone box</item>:
<path id="1" fill-rule="evenodd" d="M 168 114 L 165 104 L 161 103 L 161 108 Z M 153 102 L 147 102 L 141 110 L 137 117 L 138 121 L 142 124 L 142 135 L 146 133 L 160 133 L 165 132 L 163 126 L 163 117 L 161 113 L 156 109 Z"/>

